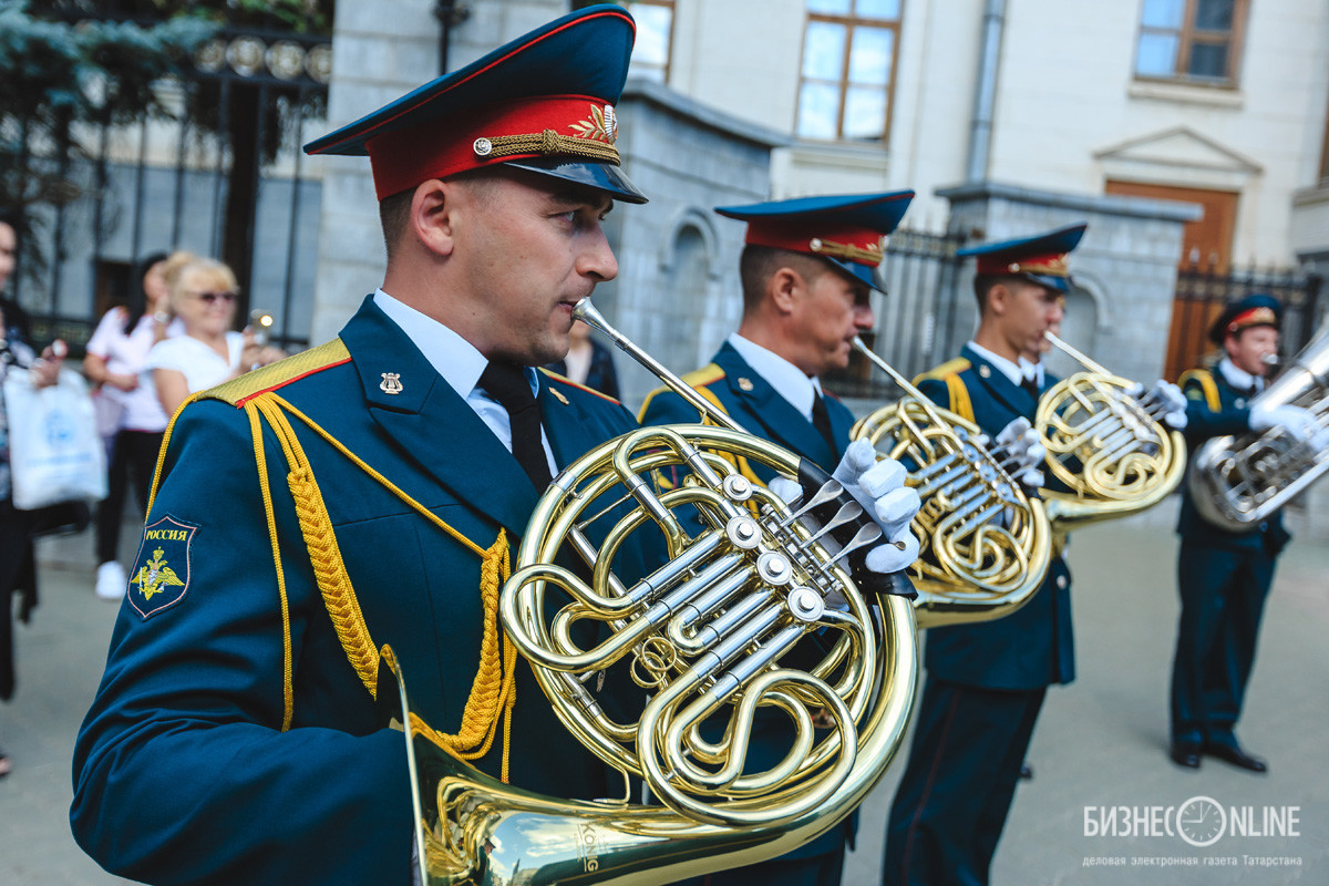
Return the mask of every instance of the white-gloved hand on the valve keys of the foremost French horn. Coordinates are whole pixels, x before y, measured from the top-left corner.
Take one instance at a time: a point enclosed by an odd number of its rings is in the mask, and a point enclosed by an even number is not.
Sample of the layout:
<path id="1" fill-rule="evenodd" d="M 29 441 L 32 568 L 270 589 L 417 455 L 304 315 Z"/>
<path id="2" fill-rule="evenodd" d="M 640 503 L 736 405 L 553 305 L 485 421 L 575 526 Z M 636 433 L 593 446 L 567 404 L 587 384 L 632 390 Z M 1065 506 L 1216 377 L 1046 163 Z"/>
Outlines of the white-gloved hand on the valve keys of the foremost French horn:
<path id="1" fill-rule="evenodd" d="M 886 543 L 877 545 L 867 555 L 867 566 L 874 573 L 898 573 L 918 559 L 918 539 L 909 530 L 909 522 L 918 513 L 922 501 L 917 491 L 905 486 L 906 476 L 908 472 L 898 461 L 877 461 L 877 450 L 868 440 L 849 444 L 844 458 L 831 474 L 881 526 Z M 769 487 L 787 502 L 792 502 L 803 491 L 799 484 L 784 477 L 771 480 Z"/>

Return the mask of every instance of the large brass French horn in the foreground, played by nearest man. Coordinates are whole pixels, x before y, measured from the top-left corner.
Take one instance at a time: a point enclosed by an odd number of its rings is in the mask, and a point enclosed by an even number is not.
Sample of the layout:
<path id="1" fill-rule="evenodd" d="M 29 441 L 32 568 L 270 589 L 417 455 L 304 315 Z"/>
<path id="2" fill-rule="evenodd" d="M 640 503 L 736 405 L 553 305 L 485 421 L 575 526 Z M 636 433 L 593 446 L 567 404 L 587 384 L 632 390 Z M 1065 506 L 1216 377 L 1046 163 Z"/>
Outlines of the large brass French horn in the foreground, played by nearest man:
<path id="1" fill-rule="evenodd" d="M 872 574 L 851 575 L 880 527 L 820 469 L 744 433 L 635 349 L 589 300 L 574 315 L 719 426 L 643 428 L 567 465 L 532 514 L 500 616 L 560 720 L 625 786 L 639 778 L 663 805 L 504 785 L 403 713 L 424 883 L 649 886 L 783 854 L 863 802 L 913 708 L 913 608 L 882 592 L 896 588 L 869 588 Z M 750 482 L 743 460 L 797 480 L 801 498 Z M 659 489 L 657 472 L 674 468 L 686 480 Z M 670 559 L 629 583 L 614 565 L 638 533 L 662 538 Z M 789 667 L 785 655 L 799 646 L 801 659 L 813 634 L 821 658 Z M 606 711 L 595 695 L 606 673 L 635 681 L 639 712 Z M 795 739 L 771 769 L 746 772 L 759 709 L 787 719 Z M 815 715 L 832 725 L 815 728 Z M 716 737 L 703 723 L 724 728 Z"/>

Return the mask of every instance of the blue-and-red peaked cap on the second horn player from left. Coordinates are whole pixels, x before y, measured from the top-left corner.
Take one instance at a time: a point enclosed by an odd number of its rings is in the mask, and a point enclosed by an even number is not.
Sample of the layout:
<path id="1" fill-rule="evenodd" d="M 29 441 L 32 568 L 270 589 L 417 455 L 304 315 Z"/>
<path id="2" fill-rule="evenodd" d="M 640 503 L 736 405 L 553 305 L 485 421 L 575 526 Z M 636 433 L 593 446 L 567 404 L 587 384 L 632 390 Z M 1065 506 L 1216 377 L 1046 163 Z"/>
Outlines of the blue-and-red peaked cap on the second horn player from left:
<path id="1" fill-rule="evenodd" d="M 773 246 L 816 255 L 845 274 L 885 292 L 874 271 L 881 264 L 881 238 L 896 230 L 913 191 L 799 197 L 748 206 L 716 206 L 727 218 L 748 223 L 752 246 Z"/>

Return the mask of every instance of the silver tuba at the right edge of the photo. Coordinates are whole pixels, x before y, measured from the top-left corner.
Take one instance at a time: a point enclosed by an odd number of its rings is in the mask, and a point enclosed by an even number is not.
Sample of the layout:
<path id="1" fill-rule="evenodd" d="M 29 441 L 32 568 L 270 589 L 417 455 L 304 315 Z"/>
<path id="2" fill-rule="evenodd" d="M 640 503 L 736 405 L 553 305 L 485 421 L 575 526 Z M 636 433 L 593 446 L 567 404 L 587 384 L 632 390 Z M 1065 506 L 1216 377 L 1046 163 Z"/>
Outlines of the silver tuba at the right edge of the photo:
<path id="1" fill-rule="evenodd" d="M 1257 406 L 1304 406 L 1329 425 L 1329 323 L 1268 388 Z M 1314 449 L 1282 428 L 1215 437 L 1195 453 L 1191 498 L 1196 510 L 1229 533 L 1251 530 L 1329 470 L 1329 450 Z"/>

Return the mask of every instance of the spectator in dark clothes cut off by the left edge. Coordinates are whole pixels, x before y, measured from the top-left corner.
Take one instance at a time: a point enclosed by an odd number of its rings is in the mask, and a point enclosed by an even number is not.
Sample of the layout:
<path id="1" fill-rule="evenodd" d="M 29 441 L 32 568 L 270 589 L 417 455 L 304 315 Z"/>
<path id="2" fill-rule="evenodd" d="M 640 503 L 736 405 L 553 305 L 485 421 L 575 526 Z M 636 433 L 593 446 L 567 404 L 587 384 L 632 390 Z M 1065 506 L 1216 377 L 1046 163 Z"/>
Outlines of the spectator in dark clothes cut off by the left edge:
<path id="1" fill-rule="evenodd" d="M 0 210 L 0 290 L 13 274 L 19 254 L 19 228 Z M 13 696 L 13 607 L 11 595 L 21 594 L 20 618 L 37 604 L 37 570 L 32 533 L 37 511 L 17 510 L 9 485 L 9 433 L 4 404 L 4 380 L 13 368 L 27 369 L 32 384 L 45 388 L 56 383 L 64 356 L 64 341 L 56 341 L 41 356 L 27 343 L 27 315 L 17 304 L 0 298 L 0 699 Z M 58 355 L 58 356 L 57 356 Z M 9 774 L 9 758 L 0 751 L 0 777 Z"/>

